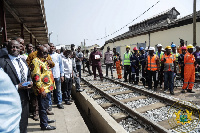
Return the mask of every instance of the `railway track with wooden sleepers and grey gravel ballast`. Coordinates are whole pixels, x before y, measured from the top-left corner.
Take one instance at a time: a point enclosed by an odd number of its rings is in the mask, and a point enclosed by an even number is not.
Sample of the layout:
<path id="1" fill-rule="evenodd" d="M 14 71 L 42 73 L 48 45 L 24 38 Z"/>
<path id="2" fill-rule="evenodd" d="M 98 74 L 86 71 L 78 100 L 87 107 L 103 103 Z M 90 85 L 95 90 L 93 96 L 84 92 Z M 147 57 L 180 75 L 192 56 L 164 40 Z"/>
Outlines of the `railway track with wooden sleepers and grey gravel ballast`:
<path id="1" fill-rule="evenodd" d="M 200 132 L 199 107 L 193 103 L 110 78 L 102 82 L 86 76 L 82 81 L 85 92 L 127 132 Z M 178 124 L 175 113 L 186 109 L 192 120 Z"/>

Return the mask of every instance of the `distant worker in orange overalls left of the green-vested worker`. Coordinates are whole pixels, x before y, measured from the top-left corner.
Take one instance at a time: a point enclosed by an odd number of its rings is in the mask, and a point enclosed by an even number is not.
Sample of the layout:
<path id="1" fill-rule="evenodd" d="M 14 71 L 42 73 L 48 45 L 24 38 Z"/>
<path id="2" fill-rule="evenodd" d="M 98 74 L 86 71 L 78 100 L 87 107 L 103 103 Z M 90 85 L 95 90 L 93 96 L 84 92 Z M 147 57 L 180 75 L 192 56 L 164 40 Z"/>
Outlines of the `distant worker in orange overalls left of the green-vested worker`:
<path id="1" fill-rule="evenodd" d="M 113 60 L 114 65 L 116 65 L 118 79 L 122 79 L 122 60 L 120 54 L 113 48 Z"/>

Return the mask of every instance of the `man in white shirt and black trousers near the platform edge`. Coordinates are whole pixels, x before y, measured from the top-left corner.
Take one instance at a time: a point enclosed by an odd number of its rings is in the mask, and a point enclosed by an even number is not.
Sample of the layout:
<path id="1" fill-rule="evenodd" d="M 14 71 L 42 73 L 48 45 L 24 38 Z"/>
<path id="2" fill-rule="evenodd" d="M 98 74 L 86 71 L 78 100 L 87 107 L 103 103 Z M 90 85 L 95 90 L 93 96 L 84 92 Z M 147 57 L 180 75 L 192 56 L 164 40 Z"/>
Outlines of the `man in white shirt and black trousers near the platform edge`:
<path id="1" fill-rule="evenodd" d="M 66 50 L 64 52 L 65 57 L 63 58 L 63 65 L 64 65 L 64 100 L 67 105 L 71 104 L 71 89 L 72 89 L 72 78 L 73 78 L 73 67 L 72 67 L 72 60 L 71 60 L 71 51 Z"/>

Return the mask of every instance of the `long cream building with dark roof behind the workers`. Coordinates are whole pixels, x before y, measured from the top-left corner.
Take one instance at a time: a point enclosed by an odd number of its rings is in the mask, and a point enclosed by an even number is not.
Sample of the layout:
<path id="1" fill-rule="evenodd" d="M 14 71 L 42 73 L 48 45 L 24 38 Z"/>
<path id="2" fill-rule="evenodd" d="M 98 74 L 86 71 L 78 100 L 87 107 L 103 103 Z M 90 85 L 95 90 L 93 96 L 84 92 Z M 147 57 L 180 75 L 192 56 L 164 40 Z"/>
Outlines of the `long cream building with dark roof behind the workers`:
<path id="1" fill-rule="evenodd" d="M 163 13 L 160 13 L 150 19 L 137 23 L 129 27 L 129 31 L 108 40 L 101 47 L 102 52 L 106 51 L 107 46 L 112 49 L 116 47 L 117 51 L 122 55 L 126 46 L 156 46 L 162 44 L 165 48 L 172 43 L 179 46 L 180 39 L 185 44 L 193 43 L 193 16 L 188 15 L 177 19 L 180 13 L 173 7 Z M 196 23 L 197 45 L 200 44 L 200 11 L 197 12 Z"/>

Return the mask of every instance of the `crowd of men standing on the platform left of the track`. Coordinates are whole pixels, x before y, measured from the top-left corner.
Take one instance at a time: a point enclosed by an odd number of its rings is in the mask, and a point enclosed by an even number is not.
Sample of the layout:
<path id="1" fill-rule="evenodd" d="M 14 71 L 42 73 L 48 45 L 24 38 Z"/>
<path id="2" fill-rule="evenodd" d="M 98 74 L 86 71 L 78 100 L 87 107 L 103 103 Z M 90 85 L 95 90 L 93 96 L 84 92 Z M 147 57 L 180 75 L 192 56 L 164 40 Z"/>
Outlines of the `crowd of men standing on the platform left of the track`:
<path id="1" fill-rule="evenodd" d="M 81 47 L 75 50 L 72 44 L 71 50 L 62 48 L 60 52 L 56 52 L 53 43 L 38 44 L 34 51 L 33 45 L 25 46 L 21 37 L 2 45 L 0 73 L 6 76 L 0 79 L 1 88 L 4 87 L 0 91 L 0 106 L 6 109 L 0 111 L 0 132 L 26 133 L 30 114 L 35 121 L 40 120 L 41 130 L 56 129 L 49 125 L 55 120 L 47 117 L 54 115 L 52 104 L 57 104 L 58 109 L 64 109 L 63 101 L 72 104 L 73 82 L 76 92 L 82 91 Z M 85 60 L 89 61 L 89 54 Z M 3 123 L 6 120 L 9 121 Z"/>

